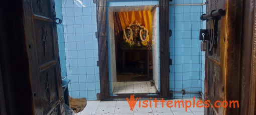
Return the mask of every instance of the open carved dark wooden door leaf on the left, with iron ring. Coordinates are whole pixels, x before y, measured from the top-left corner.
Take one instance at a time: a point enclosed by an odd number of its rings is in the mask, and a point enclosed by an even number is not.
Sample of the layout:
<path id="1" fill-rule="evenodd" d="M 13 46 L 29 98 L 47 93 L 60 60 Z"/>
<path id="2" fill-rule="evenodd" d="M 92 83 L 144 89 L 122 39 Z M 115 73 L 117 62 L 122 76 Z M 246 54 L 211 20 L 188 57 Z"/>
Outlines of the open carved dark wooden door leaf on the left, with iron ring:
<path id="1" fill-rule="evenodd" d="M 64 114 L 54 0 L 23 0 L 23 9 L 34 112 Z"/>

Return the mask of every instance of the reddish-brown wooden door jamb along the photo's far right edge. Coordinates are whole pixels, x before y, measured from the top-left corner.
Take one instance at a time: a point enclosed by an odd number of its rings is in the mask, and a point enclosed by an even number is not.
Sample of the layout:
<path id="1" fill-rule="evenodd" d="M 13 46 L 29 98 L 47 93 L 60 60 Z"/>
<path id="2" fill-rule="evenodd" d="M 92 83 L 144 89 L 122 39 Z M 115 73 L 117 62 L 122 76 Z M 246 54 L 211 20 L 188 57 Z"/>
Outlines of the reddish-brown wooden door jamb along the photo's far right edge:
<path id="1" fill-rule="evenodd" d="M 245 7 L 243 7 L 243 27 L 242 27 L 242 37 L 241 37 L 241 75 L 240 75 L 240 97 L 239 97 L 239 103 L 240 103 L 240 114 L 249 114 L 249 103 L 253 102 L 253 99 L 250 96 L 250 92 L 252 91 L 253 87 L 255 87 L 255 84 L 253 86 L 253 83 L 250 84 L 250 78 L 252 78 L 251 74 L 255 74 L 255 71 L 253 70 L 253 47 L 252 44 L 254 42 L 253 39 L 253 31 L 254 29 L 254 0 L 243 0 L 243 3 Z M 254 63 L 255 64 L 255 63 Z M 252 65 L 252 66 L 251 66 Z M 251 85 L 251 86 L 250 86 Z M 250 88 L 249 88 L 250 87 Z M 250 90 L 252 89 L 252 90 Z M 255 89 L 255 88 L 254 88 Z M 253 94 L 253 93 L 251 93 Z M 250 97 L 250 99 L 248 99 Z M 252 99 L 252 100 L 251 100 Z M 254 98 L 255 99 L 255 98 Z M 253 103 L 254 106 L 255 103 Z"/>

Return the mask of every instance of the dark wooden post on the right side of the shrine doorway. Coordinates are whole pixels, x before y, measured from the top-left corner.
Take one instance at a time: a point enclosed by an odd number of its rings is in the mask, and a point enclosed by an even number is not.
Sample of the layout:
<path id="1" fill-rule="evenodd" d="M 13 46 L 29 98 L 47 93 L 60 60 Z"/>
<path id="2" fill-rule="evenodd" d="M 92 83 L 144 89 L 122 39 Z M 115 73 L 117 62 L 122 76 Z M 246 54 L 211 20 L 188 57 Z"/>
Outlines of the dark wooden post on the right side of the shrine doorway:
<path id="1" fill-rule="evenodd" d="M 170 48 L 169 48 L 169 0 L 159 0 L 160 42 L 160 96 L 169 97 Z"/>

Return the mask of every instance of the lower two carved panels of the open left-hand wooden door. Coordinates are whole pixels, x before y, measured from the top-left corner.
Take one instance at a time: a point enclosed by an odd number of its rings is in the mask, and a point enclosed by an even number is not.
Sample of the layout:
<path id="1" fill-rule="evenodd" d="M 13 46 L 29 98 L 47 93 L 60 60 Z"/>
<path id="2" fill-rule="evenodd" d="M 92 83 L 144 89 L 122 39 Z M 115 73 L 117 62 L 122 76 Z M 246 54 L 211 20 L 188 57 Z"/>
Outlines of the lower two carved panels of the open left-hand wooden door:
<path id="1" fill-rule="evenodd" d="M 58 112 L 62 101 L 58 41 L 53 19 L 34 14 L 34 31 L 37 50 L 38 70 L 40 74 L 40 92 L 43 114 Z M 57 58 L 56 58 L 57 57 Z M 57 60 L 56 60 L 57 59 Z M 52 111 L 55 110 L 55 111 Z M 60 114 L 58 112 L 57 114 Z"/>

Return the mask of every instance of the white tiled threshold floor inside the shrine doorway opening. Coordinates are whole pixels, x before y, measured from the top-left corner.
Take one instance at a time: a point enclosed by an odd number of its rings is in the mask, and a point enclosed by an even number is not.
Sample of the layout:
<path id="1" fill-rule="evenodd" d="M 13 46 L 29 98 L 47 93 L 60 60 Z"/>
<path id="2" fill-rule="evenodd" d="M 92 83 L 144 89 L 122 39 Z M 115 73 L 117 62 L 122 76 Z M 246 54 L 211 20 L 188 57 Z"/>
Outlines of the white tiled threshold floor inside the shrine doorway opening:
<path id="1" fill-rule="evenodd" d="M 113 93 L 156 93 L 156 87 L 151 86 L 150 81 L 117 82 Z"/>

